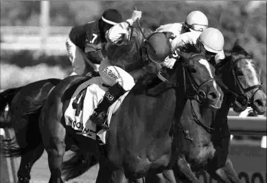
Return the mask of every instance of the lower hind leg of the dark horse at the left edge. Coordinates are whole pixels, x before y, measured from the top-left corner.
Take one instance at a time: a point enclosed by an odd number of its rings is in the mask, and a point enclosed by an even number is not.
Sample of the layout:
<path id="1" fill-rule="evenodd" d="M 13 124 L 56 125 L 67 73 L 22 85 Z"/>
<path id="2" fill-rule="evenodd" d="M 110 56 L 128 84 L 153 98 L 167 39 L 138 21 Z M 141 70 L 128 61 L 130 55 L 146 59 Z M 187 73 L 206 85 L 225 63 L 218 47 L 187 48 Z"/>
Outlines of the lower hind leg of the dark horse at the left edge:
<path id="1" fill-rule="evenodd" d="M 27 152 L 27 154 L 21 156 L 21 164 L 17 174 L 18 183 L 30 182 L 30 171 L 32 170 L 32 166 L 34 165 L 34 162 L 42 156 L 44 150 L 45 148 L 43 147 L 43 144 L 41 144 L 32 151 Z"/>

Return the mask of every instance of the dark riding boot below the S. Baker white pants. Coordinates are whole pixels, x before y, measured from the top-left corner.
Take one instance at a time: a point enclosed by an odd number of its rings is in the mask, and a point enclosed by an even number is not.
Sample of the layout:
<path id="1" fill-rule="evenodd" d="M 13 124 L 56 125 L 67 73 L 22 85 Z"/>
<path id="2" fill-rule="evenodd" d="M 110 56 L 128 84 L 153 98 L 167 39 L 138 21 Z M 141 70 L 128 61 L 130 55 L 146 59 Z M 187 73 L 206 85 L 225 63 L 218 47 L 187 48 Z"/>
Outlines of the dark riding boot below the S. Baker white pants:
<path id="1" fill-rule="evenodd" d="M 108 108 L 117 100 L 121 95 L 124 95 L 126 90 L 121 87 L 119 83 L 114 84 L 111 88 L 108 88 L 108 91 L 105 93 L 103 100 L 95 108 L 93 114 L 90 117 L 90 120 L 93 121 L 97 126 L 102 128 L 107 128 L 104 124 L 106 120 L 106 114 Z"/>

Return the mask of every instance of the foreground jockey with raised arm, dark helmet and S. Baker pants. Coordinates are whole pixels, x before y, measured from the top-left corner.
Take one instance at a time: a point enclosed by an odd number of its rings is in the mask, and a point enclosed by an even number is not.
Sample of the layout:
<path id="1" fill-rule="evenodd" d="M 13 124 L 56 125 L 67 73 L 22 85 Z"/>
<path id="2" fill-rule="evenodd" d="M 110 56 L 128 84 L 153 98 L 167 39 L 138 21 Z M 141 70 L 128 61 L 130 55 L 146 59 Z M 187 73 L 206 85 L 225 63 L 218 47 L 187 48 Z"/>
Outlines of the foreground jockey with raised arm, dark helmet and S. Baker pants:
<path id="1" fill-rule="evenodd" d="M 170 40 L 165 34 L 141 28 L 144 29 L 142 35 L 138 28 L 132 27 L 132 23 L 140 18 L 141 12 L 134 10 L 130 19 L 114 25 L 106 32 L 108 50 L 107 57 L 100 64 L 100 76 L 104 84 L 111 87 L 90 117 L 97 126 L 106 127 L 104 122 L 109 106 L 135 86 L 135 81 L 128 72 L 136 70 L 139 65 L 143 66 L 143 55 L 153 63 L 163 62 L 172 54 Z M 143 36 L 147 41 L 144 41 Z M 129 69 L 131 66 L 132 69 Z"/>

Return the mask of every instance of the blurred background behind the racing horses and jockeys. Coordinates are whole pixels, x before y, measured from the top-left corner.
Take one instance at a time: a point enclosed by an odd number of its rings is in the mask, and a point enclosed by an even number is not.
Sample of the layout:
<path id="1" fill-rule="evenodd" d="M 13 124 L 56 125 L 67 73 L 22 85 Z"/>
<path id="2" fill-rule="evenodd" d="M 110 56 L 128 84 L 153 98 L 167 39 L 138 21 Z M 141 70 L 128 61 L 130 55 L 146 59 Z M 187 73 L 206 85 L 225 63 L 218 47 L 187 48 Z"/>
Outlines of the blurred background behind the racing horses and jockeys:
<path id="1" fill-rule="evenodd" d="M 65 40 L 71 27 L 99 19 L 107 8 L 119 10 L 126 20 L 136 5 L 138 10 L 143 12 L 141 25 L 152 30 L 167 23 L 181 23 L 185 21 L 187 14 L 194 10 L 205 13 L 209 19 L 209 27 L 219 28 L 224 34 L 224 49 L 231 49 L 235 40 L 239 38 L 242 47 L 255 58 L 257 66 L 262 71 L 261 77 L 266 92 L 266 1 L 0 1 L 0 3 L 0 90 L 51 77 L 60 79 L 67 77 L 71 73 L 71 62 L 67 56 Z M 247 117 L 255 114 L 250 109 L 242 114 L 230 110 L 229 116 Z M 264 116 L 266 117 L 266 114 Z M 235 144 L 260 147 L 263 142 L 262 147 L 266 148 L 266 136 L 232 137 Z M 236 151 L 236 154 L 240 153 L 240 150 Z M 262 151 L 258 151 L 257 154 L 262 154 Z M 259 156 L 259 162 L 266 161 L 266 150 L 264 154 Z M 38 175 L 48 171 L 47 167 L 42 167 L 42 163 L 35 167 L 37 170 L 40 169 L 36 171 Z M 264 171 L 266 174 L 266 167 Z M 37 174 L 32 176 L 38 176 Z M 48 180 L 48 176 L 49 174 L 45 175 L 45 180 Z"/>

